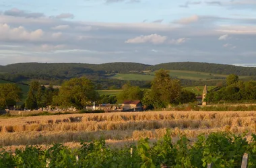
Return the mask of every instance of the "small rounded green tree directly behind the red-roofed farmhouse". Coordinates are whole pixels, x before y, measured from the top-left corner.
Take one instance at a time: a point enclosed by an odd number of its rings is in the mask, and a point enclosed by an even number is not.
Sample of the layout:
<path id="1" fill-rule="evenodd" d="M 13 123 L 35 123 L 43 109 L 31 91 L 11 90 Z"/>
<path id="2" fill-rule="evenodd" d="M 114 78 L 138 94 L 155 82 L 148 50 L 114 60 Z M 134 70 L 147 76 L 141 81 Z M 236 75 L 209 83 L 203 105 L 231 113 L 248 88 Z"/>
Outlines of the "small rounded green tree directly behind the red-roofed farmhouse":
<path id="1" fill-rule="evenodd" d="M 131 86 L 126 83 L 122 87 L 122 91 L 117 95 L 117 101 L 122 103 L 125 99 L 141 100 L 143 98 L 143 91 L 138 86 Z"/>

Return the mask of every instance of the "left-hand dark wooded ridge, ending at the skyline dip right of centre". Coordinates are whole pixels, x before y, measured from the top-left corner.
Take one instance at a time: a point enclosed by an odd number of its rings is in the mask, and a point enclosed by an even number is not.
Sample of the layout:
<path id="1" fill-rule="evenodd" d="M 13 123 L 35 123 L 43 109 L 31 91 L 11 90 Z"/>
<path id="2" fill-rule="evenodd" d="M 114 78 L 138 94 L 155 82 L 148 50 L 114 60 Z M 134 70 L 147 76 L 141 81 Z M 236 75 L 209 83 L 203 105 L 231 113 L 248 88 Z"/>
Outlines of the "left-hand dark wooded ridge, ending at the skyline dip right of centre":
<path id="1" fill-rule="evenodd" d="M 143 71 L 150 65 L 143 65 L 133 62 L 112 62 L 106 64 L 80 64 L 80 63 L 19 63 L 1 66 L 0 72 L 8 73 L 51 73 L 53 75 L 75 75 L 94 72 L 117 72 L 126 73 L 129 71 Z"/>

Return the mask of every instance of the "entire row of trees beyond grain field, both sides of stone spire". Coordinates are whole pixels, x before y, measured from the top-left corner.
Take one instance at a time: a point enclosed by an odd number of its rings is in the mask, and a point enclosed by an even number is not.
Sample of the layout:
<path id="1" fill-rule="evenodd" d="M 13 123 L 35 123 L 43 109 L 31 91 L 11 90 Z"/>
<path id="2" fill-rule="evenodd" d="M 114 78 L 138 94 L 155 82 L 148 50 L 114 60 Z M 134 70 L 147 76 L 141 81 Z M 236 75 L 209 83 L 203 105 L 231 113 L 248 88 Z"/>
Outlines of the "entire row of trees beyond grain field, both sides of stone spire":
<path id="1" fill-rule="evenodd" d="M 150 89 L 125 83 L 117 96 L 99 95 L 94 82 L 86 77 L 72 78 L 65 81 L 60 89 L 44 87 L 38 81 L 30 83 L 24 108 L 34 110 L 46 106 L 75 107 L 83 109 L 92 103 L 122 103 L 124 100 L 140 100 L 149 109 L 168 108 L 172 104 L 196 101 L 195 93 L 184 89 L 179 79 L 173 79 L 169 71 L 156 71 Z M 12 83 L 0 84 L 0 108 L 15 106 L 22 99 L 22 90 Z M 205 101 L 249 101 L 256 99 L 256 81 L 241 81 L 231 74 L 226 83 L 207 93 Z"/>

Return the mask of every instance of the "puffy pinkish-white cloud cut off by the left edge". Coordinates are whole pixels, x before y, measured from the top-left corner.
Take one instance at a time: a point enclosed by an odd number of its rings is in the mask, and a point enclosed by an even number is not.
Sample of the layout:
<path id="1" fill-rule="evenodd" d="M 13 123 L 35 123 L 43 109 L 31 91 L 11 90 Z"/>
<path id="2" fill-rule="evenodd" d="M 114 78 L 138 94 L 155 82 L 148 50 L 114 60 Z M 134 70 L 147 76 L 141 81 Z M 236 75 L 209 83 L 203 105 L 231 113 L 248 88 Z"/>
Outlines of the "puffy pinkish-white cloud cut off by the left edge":
<path id="1" fill-rule="evenodd" d="M 7 24 L 0 24 L 0 40 L 40 40 L 44 32 L 41 29 L 29 32 L 24 27 L 11 28 Z"/>

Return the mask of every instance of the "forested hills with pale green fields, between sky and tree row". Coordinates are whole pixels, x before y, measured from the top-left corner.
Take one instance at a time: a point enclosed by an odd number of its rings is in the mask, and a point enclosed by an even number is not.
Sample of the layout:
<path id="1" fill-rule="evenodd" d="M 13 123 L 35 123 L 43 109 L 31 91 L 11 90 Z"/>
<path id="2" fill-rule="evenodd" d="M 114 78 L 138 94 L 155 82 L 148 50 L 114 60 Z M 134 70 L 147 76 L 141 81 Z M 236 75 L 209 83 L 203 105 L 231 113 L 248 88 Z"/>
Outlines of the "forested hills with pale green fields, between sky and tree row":
<path id="1" fill-rule="evenodd" d="M 172 72 L 171 74 L 173 77 L 181 79 L 181 83 L 186 86 L 215 85 L 219 80 L 225 78 L 216 74 L 229 75 L 235 73 L 236 75 L 244 76 L 244 79 L 254 79 L 256 76 L 256 68 L 204 62 L 170 62 L 154 66 L 134 62 L 112 62 L 99 65 L 30 62 L 0 66 L 0 79 L 21 83 L 30 83 L 31 80 L 38 80 L 42 84 L 61 85 L 63 81 L 73 77 L 86 76 L 96 83 L 98 89 L 109 89 L 110 87 L 115 89 L 121 88 L 127 82 L 122 79 L 122 74 L 139 74 L 143 75 L 138 76 L 141 80 L 133 78 L 133 75 L 131 75 L 129 79 L 131 84 L 139 85 L 139 87 L 150 87 L 150 80 L 145 80 L 144 77 L 149 77 L 147 75 L 154 76 L 154 71 L 159 69 L 186 71 Z M 200 74 L 200 72 L 207 74 Z M 184 75 L 189 75 L 189 77 L 179 77 Z"/>

